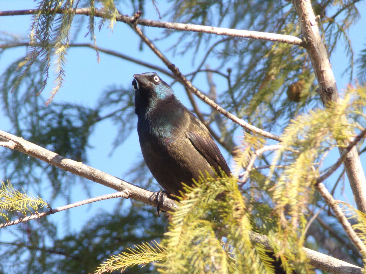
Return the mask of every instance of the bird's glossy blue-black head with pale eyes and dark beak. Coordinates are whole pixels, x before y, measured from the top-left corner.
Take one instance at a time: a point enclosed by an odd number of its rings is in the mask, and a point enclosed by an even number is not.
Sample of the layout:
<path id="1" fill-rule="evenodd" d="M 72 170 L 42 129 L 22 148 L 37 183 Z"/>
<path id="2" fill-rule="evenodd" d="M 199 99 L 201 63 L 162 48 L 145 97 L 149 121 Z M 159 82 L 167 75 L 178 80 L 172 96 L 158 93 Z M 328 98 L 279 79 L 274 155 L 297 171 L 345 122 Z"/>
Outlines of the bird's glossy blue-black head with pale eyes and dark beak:
<path id="1" fill-rule="evenodd" d="M 153 108 L 158 102 L 173 95 L 173 89 L 156 72 L 134 74 L 135 113 Z"/>

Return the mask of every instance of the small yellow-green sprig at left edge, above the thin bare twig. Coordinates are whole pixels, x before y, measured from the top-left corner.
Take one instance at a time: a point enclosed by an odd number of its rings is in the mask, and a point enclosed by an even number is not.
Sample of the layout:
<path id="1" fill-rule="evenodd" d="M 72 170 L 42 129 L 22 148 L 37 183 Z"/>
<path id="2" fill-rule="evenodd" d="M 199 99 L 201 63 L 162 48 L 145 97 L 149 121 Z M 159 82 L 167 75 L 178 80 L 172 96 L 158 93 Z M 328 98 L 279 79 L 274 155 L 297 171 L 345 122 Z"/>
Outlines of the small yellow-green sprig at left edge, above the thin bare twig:
<path id="1" fill-rule="evenodd" d="M 27 195 L 14 189 L 10 182 L 1 182 L 0 189 L 0 216 L 8 221 L 8 212 L 16 211 L 24 214 L 37 213 L 40 208 L 48 206 L 48 203 L 41 198 Z M 49 207 L 49 206 L 48 206 Z"/>

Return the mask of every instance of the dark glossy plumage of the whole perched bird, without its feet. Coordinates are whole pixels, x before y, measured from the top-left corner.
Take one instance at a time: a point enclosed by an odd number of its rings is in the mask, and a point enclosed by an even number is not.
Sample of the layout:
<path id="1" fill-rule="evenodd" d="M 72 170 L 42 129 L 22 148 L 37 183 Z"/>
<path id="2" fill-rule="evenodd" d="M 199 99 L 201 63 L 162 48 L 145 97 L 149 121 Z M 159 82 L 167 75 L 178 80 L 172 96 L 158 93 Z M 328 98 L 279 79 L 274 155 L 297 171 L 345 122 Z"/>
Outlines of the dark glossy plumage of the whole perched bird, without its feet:
<path id="1" fill-rule="evenodd" d="M 200 171 L 211 176 L 230 169 L 211 134 L 155 72 L 135 74 L 137 132 L 146 165 L 170 194 L 192 184 Z M 214 171 L 212 170 L 214 169 Z"/>

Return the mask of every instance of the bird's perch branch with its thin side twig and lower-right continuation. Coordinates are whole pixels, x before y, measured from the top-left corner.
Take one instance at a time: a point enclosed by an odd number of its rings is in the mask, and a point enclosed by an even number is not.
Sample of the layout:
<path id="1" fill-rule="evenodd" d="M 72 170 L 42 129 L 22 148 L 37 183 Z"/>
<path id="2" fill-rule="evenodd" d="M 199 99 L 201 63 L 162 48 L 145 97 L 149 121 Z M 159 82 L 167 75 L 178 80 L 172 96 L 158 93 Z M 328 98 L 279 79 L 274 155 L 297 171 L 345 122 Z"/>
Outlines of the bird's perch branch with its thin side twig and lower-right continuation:
<path id="1" fill-rule="evenodd" d="M 92 180 L 93 182 L 103 184 L 104 186 L 111 187 L 112 189 L 120 191 L 119 193 L 112 193 L 108 195 L 103 195 L 101 197 L 92 198 L 91 200 L 95 199 L 107 199 L 112 197 L 124 197 L 126 199 L 133 198 L 137 199 L 139 201 L 149 203 L 149 198 L 153 194 L 151 191 L 141 189 L 138 186 L 135 186 L 133 184 L 130 184 L 124 180 L 118 179 L 114 176 L 111 176 L 109 174 L 106 174 L 105 172 L 96 170 L 95 168 L 89 167 L 85 164 L 82 164 L 77 161 L 73 161 L 71 159 L 64 158 L 52 151 L 49 151 L 47 149 L 41 148 L 38 145 L 35 145 L 29 141 L 24 140 L 23 138 L 16 137 L 10 133 L 4 132 L 0 130 L 0 145 L 15 149 L 17 151 L 26 153 L 27 155 L 33 156 L 37 159 L 40 159 L 42 161 L 45 161 L 46 163 L 55 165 L 56 167 L 59 167 L 65 171 L 72 172 L 73 174 L 82 176 L 86 179 Z M 75 204 L 85 204 L 90 199 L 77 202 Z M 65 207 L 70 207 L 75 204 L 67 205 Z M 156 204 L 153 204 L 153 206 L 156 206 Z M 169 211 L 174 211 L 177 207 L 175 201 L 165 198 L 164 201 L 164 207 L 168 209 Z M 63 207 L 53 209 L 53 211 L 60 211 Z M 40 213 L 42 214 L 42 213 Z M 45 213 L 46 214 L 46 213 Z M 47 213 L 51 214 L 51 213 Z M 30 218 L 38 218 L 40 216 L 33 215 L 34 217 Z M 19 220 L 13 221 L 13 222 L 19 222 Z M 5 226 L 5 225 L 3 225 Z M 264 235 L 258 235 L 255 234 L 253 236 L 253 240 L 262 243 L 266 246 L 266 249 L 270 249 L 270 245 L 268 243 L 268 240 L 266 239 L 266 236 Z M 320 252 L 313 251 L 306 249 L 307 257 L 310 260 L 310 264 L 313 266 L 316 266 L 320 269 L 328 270 L 330 273 L 345 273 L 342 271 L 346 271 L 351 269 L 352 273 L 361 273 L 361 268 L 351 265 L 349 263 L 343 262 L 341 260 L 332 258 L 330 256 L 321 254 Z M 324 259 L 326 258 L 326 260 Z M 347 272 L 348 273 L 348 272 Z M 350 272 L 351 273 L 351 272 Z"/>

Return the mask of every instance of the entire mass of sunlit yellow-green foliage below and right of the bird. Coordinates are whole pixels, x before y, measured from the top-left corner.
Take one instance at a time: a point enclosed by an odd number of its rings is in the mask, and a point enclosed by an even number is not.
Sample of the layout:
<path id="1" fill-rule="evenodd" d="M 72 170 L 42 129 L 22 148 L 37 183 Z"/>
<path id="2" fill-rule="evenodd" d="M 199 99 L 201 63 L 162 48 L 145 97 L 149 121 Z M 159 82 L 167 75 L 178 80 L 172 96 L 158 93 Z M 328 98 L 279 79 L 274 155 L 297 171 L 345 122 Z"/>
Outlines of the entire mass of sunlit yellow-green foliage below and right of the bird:
<path id="1" fill-rule="evenodd" d="M 265 151 L 264 138 L 245 134 L 235 159 L 238 170 L 247 168 L 252 157 L 260 163 L 261 157 L 272 158 L 268 168 L 253 166 L 250 184 L 241 182 L 245 191 L 236 178 L 208 178 L 186 186 L 161 244 L 145 243 L 112 256 L 98 273 L 147 262 L 156 262 L 161 273 L 273 273 L 264 246 L 251 238 L 255 233 L 268 237 L 288 273 L 292 267 L 296 273 L 311 273 L 302 247 L 315 183 L 329 168 L 322 167 L 322 159 L 365 126 L 365 105 L 365 89 L 352 88 L 338 103 L 297 116 L 275 153 Z M 358 122 L 347 122 L 343 115 Z M 365 215 L 354 211 L 353 216 L 358 219 L 354 228 L 364 238 Z"/>

